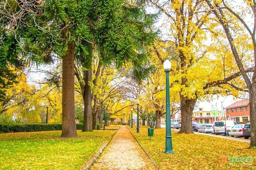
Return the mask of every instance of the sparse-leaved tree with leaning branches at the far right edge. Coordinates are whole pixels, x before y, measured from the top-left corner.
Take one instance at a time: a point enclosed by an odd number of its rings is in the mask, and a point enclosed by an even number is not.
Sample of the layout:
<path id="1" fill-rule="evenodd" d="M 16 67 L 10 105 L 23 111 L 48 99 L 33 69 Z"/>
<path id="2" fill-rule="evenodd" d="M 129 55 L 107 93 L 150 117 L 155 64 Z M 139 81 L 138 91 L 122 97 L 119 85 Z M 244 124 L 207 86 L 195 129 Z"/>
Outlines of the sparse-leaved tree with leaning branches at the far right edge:
<path id="1" fill-rule="evenodd" d="M 222 26 L 226 39 L 228 40 L 230 50 L 235 58 L 246 89 L 234 86 L 238 90 L 249 93 L 250 100 L 250 121 L 251 121 L 251 143 L 249 148 L 256 146 L 256 75 L 255 70 L 252 74 L 247 74 L 248 68 L 255 68 L 256 60 L 256 1 L 245 0 L 240 2 L 237 8 L 232 1 L 209 1 L 205 0 L 209 6 L 208 11 L 217 18 L 218 23 Z M 247 21 L 247 17 L 250 17 Z M 252 22 L 252 26 L 251 25 Z"/>

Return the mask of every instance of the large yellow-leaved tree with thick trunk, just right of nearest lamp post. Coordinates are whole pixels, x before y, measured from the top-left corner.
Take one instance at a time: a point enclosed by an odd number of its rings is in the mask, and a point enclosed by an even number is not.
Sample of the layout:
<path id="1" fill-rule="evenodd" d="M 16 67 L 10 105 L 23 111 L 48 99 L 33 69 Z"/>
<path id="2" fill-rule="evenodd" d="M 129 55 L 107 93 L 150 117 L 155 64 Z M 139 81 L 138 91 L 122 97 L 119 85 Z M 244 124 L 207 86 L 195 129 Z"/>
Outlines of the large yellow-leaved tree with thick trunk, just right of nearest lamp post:
<path id="1" fill-rule="evenodd" d="M 223 56 L 212 51 L 213 45 L 204 43 L 208 38 L 207 33 L 211 33 L 212 29 L 209 22 L 211 11 L 205 11 L 207 7 L 205 1 L 150 2 L 168 19 L 171 33 L 170 40 L 167 41 L 172 42 L 176 47 L 176 56 L 167 58 L 172 60 L 173 65 L 170 84 L 172 88 L 178 89 L 180 95 L 179 133 L 193 133 L 191 119 L 196 100 L 206 97 L 207 94 L 227 95 L 236 90 L 232 86 L 233 79 L 241 79 L 239 77 L 241 74 L 232 67 L 232 63 L 228 64 L 228 60 L 223 60 Z M 163 63 L 166 58 L 158 56 Z M 250 71 L 252 69 L 246 70 L 246 72 Z"/>

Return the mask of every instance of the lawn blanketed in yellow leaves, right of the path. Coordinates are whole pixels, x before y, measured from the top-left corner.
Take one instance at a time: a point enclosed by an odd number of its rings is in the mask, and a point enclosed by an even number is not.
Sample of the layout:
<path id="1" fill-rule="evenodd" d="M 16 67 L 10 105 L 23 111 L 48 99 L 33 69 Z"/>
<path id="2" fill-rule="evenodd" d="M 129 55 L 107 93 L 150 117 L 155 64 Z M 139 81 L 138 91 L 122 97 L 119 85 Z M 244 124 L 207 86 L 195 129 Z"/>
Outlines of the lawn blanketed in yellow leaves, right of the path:
<path id="1" fill-rule="evenodd" d="M 131 132 L 160 169 L 256 169 L 256 150 L 247 149 L 250 144 L 246 142 L 172 131 L 174 154 L 165 154 L 165 129 L 154 129 L 151 140 L 146 128 L 141 128 L 140 133 L 133 128 Z M 251 156 L 252 162 L 228 159 Z"/>

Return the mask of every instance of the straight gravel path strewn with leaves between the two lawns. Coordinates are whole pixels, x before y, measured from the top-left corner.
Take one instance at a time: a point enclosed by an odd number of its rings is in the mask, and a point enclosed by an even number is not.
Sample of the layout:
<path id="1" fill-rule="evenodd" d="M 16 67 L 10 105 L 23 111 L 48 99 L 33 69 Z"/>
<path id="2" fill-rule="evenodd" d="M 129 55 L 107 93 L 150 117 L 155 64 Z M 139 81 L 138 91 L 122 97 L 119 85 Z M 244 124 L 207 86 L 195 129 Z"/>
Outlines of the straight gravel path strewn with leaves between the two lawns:
<path id="1" fill-rule="evenodd" d="M 126 126 L 121 126 L 97 162 L 95 169 L 155 169 Z"/>

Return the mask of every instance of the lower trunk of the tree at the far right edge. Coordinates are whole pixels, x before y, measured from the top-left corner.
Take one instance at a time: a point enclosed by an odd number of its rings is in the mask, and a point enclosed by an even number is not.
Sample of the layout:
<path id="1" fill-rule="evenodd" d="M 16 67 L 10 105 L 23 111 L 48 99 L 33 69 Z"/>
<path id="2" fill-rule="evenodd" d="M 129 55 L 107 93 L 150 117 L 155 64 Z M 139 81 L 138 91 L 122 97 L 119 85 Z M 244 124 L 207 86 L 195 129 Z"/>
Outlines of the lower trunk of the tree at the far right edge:
<path id="1" fill-rule="evenodd" d="M 253 74 L 254 79 L 255 74 Z M 252 88 L 250 89 L 250 122 L 251 122 L 251 142 L 249 148 L 256 147 L 256 81 L 252 81 Z"/>

